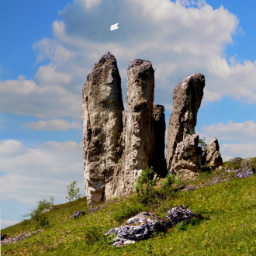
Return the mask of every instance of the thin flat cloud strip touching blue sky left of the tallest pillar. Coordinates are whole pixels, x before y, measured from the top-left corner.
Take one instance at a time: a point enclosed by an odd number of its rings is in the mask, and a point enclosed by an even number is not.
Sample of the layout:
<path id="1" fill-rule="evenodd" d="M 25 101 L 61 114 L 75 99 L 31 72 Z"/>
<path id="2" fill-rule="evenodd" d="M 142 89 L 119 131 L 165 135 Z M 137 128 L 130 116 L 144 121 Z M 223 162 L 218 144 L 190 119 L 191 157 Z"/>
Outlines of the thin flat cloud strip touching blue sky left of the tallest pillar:
<path id="1" fill-rule="evenodd" d="M 38 122 L 24 123 L 34 130 L 71 130 L 81 129 L 81 123 L 77 121 L 67 122 L 61 119 L 52 119 L 49 121 L 40 120 Z"/>

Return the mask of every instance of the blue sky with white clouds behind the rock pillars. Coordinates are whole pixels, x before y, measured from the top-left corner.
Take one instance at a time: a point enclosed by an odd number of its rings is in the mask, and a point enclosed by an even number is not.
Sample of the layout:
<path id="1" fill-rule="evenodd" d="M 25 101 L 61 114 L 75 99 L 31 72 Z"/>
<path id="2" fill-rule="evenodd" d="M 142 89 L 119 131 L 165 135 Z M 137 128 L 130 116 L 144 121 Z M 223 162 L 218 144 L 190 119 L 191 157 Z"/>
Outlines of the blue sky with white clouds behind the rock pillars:
<path id="1" fill-rule="evenodd" d="M 248 0 L 0 1 L 2 228 L 50 195 L 67 202 L 73 181 L 85 195 L 81 89 L 108 50 L 124 102 L 130 59 L 157 68 L 154 103 L 165 107 L 166 129 L 175 86 L 205 74 L 197 133 L 218 138 L 224 161 L 256 157 L 255 9 Z"/>

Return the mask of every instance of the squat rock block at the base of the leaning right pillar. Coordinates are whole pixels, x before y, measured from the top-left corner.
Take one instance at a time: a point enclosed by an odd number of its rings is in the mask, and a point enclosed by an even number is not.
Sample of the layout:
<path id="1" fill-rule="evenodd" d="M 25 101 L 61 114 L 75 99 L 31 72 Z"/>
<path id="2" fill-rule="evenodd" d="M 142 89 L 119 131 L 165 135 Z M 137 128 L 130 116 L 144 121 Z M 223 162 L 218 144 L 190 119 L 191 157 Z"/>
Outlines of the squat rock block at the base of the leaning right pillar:
<path id="1" fill-rule="evenodd" d="M 198 147 L 199 135 L 186 135 L 177 144 L 171 164 L 171 175 L 182 175 L 182 179 L 195 178 L 202 163 L 202 149 Z"/>

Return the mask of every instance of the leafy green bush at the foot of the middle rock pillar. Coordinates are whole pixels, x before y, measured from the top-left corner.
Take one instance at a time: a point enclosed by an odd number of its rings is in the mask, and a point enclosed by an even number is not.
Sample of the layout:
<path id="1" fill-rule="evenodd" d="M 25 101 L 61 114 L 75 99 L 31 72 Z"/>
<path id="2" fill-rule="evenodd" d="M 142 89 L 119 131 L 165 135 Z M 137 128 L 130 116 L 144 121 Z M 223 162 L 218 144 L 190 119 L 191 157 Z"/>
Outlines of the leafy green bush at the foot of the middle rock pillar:
<path id="1" fill-rule="evenodd" d="M 151 166 L 150 168 L 147 167 L 146 170 L 143 170 L 141 172 L 140 178 L 135 185 L 135 190 L 137 194 L 148 193 L 150 189 L 152 189 L 154 185 L 156 185 L 157 179 L 154 178 L 154 175 L 156 175 L 156 173 L 153 170 L 153 166 Z"/>

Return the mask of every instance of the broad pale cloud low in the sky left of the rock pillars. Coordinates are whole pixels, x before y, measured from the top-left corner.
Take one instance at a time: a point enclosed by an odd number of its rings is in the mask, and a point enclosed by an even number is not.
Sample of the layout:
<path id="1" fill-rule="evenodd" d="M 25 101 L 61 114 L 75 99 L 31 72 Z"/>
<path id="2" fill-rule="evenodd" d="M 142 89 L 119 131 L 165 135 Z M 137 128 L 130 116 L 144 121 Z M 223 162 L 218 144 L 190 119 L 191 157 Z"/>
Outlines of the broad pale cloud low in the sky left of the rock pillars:
<path id="1" fill-rule="evenodd" d="M 57 203 L 63 203 L 67 201 L 67 185 L 74 180 L 85 194 L 81 143 L 48 141 L 29 148 L 17 140 L 4 140 L 0 141 L 0 162 L 5 173 L 0 179 L 3 201 L 36 206 L 43 197 L 54 195 Z"/>

